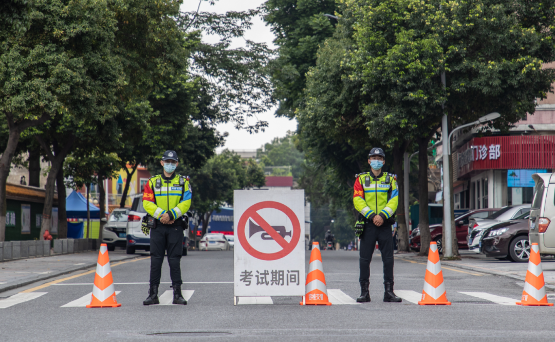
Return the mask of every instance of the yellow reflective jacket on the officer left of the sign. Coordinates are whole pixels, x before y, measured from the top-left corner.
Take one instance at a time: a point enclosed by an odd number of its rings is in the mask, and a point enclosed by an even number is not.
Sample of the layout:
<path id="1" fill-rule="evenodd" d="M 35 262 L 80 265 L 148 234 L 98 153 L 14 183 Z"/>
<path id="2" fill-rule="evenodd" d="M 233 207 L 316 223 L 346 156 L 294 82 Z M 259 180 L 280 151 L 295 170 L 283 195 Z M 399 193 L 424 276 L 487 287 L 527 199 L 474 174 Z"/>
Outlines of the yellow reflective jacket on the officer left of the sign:
<path id="1" fill-rule="evenodd" d="M 189 177 L 155 175 L 144 187 L 143 207 L 152 217 L 160 219 L 169 213 L 170 219 L 181 218 L 191 207 L 191 185 Z"/>

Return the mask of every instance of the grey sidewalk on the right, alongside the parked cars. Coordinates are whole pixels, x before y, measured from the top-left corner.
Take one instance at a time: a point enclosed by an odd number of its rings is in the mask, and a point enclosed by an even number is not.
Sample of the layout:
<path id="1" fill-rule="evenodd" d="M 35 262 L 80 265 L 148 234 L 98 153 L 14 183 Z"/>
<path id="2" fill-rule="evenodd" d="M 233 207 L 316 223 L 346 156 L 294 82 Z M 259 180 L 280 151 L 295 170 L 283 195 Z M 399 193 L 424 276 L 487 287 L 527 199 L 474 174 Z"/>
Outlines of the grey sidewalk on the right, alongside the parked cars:
<path id="1" fill-rule="evenodd" d="M 461 254 L 462 260 L 441 260 L 441 265 L 493 275 L 508 276 L 509 278 L 517 279 L 522 282 L 526 279 L 528 263 L 513 263 L 511 261 L 486 258 L 484 254 L 476 254 L 468 250 L 460 250 L 459 253 Z M 395 254 L 395 257 L 418 261 L 420 263 L 427 262 L 427 257 L 418 257 L 417 253 Z M 542 270 L 546 288 L 555 290 L 555 259 L 553 257 L 542 258 Z"/>

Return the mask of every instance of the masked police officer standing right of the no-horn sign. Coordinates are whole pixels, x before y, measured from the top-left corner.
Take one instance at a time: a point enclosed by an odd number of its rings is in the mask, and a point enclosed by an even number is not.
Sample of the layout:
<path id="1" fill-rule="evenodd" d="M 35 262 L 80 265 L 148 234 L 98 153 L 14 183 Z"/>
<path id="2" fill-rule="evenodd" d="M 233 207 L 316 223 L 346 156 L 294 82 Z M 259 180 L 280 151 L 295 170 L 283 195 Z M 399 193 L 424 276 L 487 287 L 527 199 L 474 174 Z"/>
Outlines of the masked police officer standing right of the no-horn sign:
<path id="1" fill-rule="evenodd" d="M 357 175 L 353 202 L 360 212 L 355 232 L 360 237 L 360 297 L 359 303 L 370 301 L 370 261 L 376 246 L 384 262 L 384 301 L 400 302 L 393 293 L 393 240 L 391 217 L 397 210 L 398 189 L 395 175 L 382 172 L 384 150 L 372 148 L 368 155 L 371 172 Z"/>

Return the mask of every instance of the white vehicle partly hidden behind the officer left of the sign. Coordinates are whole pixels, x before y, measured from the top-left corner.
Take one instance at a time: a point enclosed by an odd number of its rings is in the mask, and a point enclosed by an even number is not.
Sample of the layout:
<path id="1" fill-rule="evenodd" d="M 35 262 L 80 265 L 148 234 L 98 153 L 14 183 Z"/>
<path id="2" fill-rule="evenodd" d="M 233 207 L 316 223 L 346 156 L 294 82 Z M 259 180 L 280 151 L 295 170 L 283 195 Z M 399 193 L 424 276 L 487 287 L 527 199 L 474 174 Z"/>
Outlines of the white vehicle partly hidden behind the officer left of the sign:
<path id="1" fill-rule="evenodd" d="M 144 215 L 147 211 L 143 208 L 143 197 L 135 197 L 131 210 L 128 212 L 127 220 L 127 254 L 134 254 L 138 249 L 145 252 L 150 251 L 150 235 L 145 235 L 141 229 Z M 187 212 L 183 218 L 189 222 L 191 213 Z M 187 255 L 187 248 L 189 247 L 189 229 L 186 229 L 183 237 L 183 255 Z"/>

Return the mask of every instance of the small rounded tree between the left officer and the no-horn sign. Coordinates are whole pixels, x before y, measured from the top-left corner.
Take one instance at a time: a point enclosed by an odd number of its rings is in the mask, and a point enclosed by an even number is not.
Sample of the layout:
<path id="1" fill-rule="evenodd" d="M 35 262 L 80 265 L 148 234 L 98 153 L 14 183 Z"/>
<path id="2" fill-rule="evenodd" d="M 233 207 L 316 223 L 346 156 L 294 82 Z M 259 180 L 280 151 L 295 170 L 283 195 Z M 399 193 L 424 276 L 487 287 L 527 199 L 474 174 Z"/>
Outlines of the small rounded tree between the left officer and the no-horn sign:
<path id="1" fill-rule="evenodd" d="M 190 175 L 193 187 L 190 210 L 203 227 L 202 235 L 206 234 L 214 210 L 217 212 L 224 205 L 233 205 L 233 190 L 263 187 L 265 184 L 264 173 L 254 160 L 243 160 L 229 150 L 214 155 L 200 169 L 181 170 L 181 174 Z M 196 238 L 196 228 L 194 236 Z"/>

